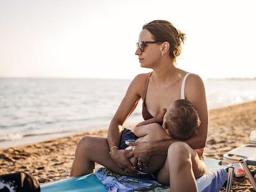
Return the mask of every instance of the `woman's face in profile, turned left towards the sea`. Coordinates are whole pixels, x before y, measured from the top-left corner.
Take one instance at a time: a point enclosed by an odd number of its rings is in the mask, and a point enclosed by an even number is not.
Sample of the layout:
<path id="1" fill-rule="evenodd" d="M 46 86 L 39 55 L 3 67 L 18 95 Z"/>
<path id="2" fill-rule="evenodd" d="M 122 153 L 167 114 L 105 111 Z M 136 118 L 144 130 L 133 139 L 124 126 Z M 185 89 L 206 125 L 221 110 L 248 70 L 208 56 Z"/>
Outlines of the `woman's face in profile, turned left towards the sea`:
<path id="1" fill-rule="evenodd" d="M 139 35 L 139 41 L 155 41 L 150 31 L 143 29 Z M 135 55 L 139 56 L 141 67 L 152 69 L 161 57 L 161 44 L 145 43 L 144 51 L 137 48 Z"/>

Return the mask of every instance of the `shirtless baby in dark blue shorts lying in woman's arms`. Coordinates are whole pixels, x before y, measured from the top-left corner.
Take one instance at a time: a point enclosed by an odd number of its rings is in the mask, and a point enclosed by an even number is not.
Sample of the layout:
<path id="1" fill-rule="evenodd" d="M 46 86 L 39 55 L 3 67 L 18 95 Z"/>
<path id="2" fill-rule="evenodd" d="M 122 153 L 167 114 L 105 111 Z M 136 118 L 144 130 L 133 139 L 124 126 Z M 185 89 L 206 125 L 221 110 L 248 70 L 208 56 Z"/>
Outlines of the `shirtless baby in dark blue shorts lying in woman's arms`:
<path id="1" fill-rule="evenodd" d="M 163 125 L 160 125 L 163 122 Z M 197 134 L 200 119 L 192 103 L 186 99 L 177 99 L 168 109 L 163 109 L 156 117 L 140 122 L 134 128 L 134 138 L 129 141 L 160 141 L 181 140 L 185 141 Z M 122 136 L 132 135 L 125 129 Z M 132 140 L 131 140 L 132 139 Z M 127 141 L 127 140 L 126 140 Z M 119 149 L 132 149 L 133 146 L 124 147 L 121 143 Z M 135 158 L 130 158 L 131 164 L 136 164 Z"/>

